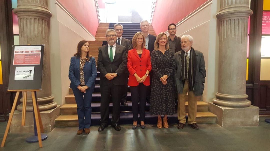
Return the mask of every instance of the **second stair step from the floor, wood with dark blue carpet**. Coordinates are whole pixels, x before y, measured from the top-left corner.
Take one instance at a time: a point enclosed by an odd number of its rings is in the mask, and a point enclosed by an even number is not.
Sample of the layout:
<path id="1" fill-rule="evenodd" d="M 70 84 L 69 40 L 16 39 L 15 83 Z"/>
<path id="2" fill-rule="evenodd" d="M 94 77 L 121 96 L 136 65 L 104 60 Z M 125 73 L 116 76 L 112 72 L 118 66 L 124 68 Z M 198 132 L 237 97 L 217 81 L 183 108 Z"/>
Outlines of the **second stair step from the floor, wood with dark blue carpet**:
<path id="1" fill-rule="evenodd" d="M 197 112 L 208 112 L 208 103 L 202 103 L 203 101 L 197 101 Z M 127 102 L 129 106 L 120 106 L 121 112 L 132 112 L 132 102 L 128 101 Z M 100 102 L 92 102 L 91 103 L 92 107 L 92 113 L 100 113 Z M 110 112 L 112 112 L 112 107 L 113 103 L 110 103 Z M 72 115 L 72 114 L 77 114 L 77 105 L 76 103 L 70 103 L 70 104 L 64 104 L 60 107 L 61 109 L 61 115 Z M 146 103 L 146 111 L 150 110 L 150 104 Z M 176 106 L 177 110 L 177 106 Z M 188 112 L 188 102 L 186 102 L 186 112 Z"/>

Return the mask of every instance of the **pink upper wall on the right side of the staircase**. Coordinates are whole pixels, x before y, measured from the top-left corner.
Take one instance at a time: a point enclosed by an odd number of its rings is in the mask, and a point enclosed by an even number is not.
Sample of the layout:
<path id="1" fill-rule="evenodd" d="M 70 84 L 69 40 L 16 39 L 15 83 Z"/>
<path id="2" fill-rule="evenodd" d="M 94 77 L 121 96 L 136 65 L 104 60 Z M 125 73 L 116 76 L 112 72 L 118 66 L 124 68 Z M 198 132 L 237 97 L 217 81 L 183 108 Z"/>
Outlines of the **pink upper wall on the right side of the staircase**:
<path id="1" fill-rule="evenodd" d="M 156 34 L 168 30 L 170 23 L 178 23 L 208 0 L 157 0 L 152 26 Z"/>

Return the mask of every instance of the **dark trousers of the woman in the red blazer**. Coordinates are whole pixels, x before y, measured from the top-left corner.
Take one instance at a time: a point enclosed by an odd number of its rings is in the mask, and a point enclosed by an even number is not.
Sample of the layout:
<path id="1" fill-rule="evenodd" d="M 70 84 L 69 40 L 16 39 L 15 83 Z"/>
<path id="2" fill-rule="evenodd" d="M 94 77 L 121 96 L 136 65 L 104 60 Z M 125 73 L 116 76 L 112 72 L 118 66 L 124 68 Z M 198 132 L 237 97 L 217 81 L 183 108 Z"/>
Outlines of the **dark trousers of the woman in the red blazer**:
<path id="1" fill-rule="evenodd" d="M 140 121 L 145 119 L 145 105 L 146 105 L 146 94 L 149 86 L 140 83 L 136 87 L 130 86 L 131 101 L 132 101 L 132 113 L 133 121 L 138 121 L 138 110 L 140 109 Z M 139 104 L 140 103 L 140 104 Z"/>

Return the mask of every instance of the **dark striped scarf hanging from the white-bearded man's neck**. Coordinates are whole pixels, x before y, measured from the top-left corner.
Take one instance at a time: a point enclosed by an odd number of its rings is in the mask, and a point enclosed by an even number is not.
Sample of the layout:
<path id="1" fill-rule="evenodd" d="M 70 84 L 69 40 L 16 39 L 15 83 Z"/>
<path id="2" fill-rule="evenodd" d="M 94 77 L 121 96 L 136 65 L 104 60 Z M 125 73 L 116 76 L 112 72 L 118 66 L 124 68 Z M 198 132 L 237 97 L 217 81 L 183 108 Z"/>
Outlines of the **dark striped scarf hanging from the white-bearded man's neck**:
<path id="1" fill-rule="evenodd" d="M 188 63 L 188 70 L 187 70 L 187 59 L 185 51 L 181 50 L 181 57 L 182 57 L 182 80 L 185 81 L 188 79 L 188 90 L 194 91 L 194 83 L 195 83 L 195 73 L 197 68 L 197 58 L 194 49 L 191 47 L 190 49 L 190 56 L 189 56 L 189 63 Z M 184 82 L 183 82 L 184 84 Z"/>

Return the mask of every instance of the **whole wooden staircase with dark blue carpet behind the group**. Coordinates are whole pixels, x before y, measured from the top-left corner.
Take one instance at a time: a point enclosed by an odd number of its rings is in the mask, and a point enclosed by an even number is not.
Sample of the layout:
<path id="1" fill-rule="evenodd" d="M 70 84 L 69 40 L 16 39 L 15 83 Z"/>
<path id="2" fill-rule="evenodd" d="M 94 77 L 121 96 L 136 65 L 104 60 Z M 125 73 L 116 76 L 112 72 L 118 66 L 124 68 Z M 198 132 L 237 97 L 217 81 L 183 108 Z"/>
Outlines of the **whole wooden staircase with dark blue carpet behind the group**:
<path id="1" fill-rule="evenodd" d="M 99 27 L 97 28 L 96 33 L 96 41 L 89 41 L 90 44 L 90 52 L 93 57 L 96 58 L 97 63 L 97 56 L 98 56 L 98 48 L 102 45 L 107 44 L 106 41 L 106 30 L 108 28 L 113 28 L 115 23 L 100 23 Z M 139 23 L 121 23 L 123 25 L 123 37 L 129 40 L 132 39 L 133 35 L 140 30 Z M 149 27 L 149 34 L 155 35 L 156 33 L 153 27 L 150 25 Z M 97 78 L 95 81 L 95 90 L 92 96 L 92 121 L 91 125 L 99 125 L 100 124 L 100 73 L 98 71 Z M 69 81 L 68 81 L 69 82 Z M 132 124 L 132 102 L 131 102 L 131 94 L 130 91 L 127 95 L 127 100 L 129 106 L 121 105 L 121 113 L 120 113 L 120 124 Z M 75 102 L 75 97 L 73 95 L 72 89 L 69 88 L 69 94 L 65 96 L 65 104 L 60 107 L 61 115 L 56 118 L 55 125 L 56 127 L 72 127 L 78 126 L 78 116 L 77 116 L 77 105 Z M 150 104 L 146 103 L 146 117 L 145 123 L 146 124 L 156 124 L 157 118 L 155 116 L 151 116 L 149 112 Z M 208 112 L 209 104 L 203 101 L 197 101 L 197 123 L 216 123 L 217 116 L 211 112 Z M 176 104 L 177 109 L 177 104 Z M 186 102 L 186 112 L 188 111 L 188 102 Z M 112 112 L 112 103 L 110 103 L 110 112 Z M 110 118 L 112 114 L 110 114 Z M 170 120 L 169 123 L 178 123 L 177 114 L 173 116 L 168 116 Z M 110 124 L 110 123 L 109 123 Z"/>

